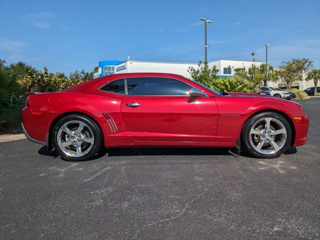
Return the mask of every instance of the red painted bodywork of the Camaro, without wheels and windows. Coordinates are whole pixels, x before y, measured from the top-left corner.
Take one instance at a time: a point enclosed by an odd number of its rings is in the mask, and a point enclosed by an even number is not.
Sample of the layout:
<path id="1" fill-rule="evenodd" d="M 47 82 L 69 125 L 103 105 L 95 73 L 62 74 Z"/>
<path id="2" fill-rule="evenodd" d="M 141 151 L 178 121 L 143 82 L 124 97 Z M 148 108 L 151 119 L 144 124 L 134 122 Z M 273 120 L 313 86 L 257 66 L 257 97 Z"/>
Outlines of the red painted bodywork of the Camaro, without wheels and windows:
<path id="1" fill-rule="evenodd" d="M 106 82 L 129 77 L 169 77 L 204 91 L 208 97 L 133 96 L 105 92 Z M 292 145 L 303 145 L 308 117 L 301 105 L 284 99 L 249 93 L 214 94 L 180 75 L 167 73 L 113 74 L 86 81 L 59 92 L 29 94 L 22 124 L 29 137 L 50 144 L 51 130 L 62 116 L 82 113 L 100 126 L 104 144 L 112 146 L 187 145 L 233 147 L 245 121 L 254 113 L 273 110 L 293 128 Z M 139 102 L 139 107 L 127 107 Z M 294 119 L 299 118 L 299 119 Z"/>

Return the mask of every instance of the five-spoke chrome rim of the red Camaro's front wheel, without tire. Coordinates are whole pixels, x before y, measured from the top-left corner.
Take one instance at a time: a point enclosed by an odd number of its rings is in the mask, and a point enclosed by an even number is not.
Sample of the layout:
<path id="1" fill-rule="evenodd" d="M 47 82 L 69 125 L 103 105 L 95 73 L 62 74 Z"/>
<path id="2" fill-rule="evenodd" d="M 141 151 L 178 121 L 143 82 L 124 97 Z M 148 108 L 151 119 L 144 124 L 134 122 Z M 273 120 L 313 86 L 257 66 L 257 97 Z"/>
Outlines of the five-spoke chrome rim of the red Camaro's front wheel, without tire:
<path id="1" fill-rule="evenodd" d="M 283 123 L 273 117 L 257 120 L 250 129 L 250 143 L 254 150 L 262 154 L 279 151 L 286 141 L 286 129 Z"/>

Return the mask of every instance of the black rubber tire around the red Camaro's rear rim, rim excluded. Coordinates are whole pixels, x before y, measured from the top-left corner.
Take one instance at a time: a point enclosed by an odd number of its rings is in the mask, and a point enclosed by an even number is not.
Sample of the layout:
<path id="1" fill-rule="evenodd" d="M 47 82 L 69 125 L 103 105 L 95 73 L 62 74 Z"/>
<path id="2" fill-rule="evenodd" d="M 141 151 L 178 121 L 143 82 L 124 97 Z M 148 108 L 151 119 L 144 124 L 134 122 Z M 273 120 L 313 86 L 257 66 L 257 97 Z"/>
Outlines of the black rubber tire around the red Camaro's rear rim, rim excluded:
<path id="1" fill-rule="evenodd" d="M 58 142 L 57 142 L 57 134 L 58 131 L 60 129 L 60 127 L 69 121 L 81 121 L 83 123 L 86 124 L 87 127 L 89 127 L 93 133 L 93 137 L 94 137 L 94 141 L 93 144 L 91 146 L 91 149 L 84 154 L 83 156 L 70 156 L 68 154 L 66 154 L 65 152 L 63 152 L 60 147 L 58 146 Z M 52 132 L 52 143 L 54 146 L 54 149 L 57 151 L 57 153 L 66 160 L 69 161 L 85 161 L 90 159 L 92 156 L 94 156 L 101 148 L 102 145 L 102 132 L 99 128 L 99 126 L 90 118 L 83 116 L 83 115 L 78 115 L 78 114 L 72 114 L 72 115 L 68 115 L 63 117 L 62 119 L 60 119 L 54 126 L 53 128 L 53 132 Z M 82 144 L 84 142 L 82 141 Z"/>

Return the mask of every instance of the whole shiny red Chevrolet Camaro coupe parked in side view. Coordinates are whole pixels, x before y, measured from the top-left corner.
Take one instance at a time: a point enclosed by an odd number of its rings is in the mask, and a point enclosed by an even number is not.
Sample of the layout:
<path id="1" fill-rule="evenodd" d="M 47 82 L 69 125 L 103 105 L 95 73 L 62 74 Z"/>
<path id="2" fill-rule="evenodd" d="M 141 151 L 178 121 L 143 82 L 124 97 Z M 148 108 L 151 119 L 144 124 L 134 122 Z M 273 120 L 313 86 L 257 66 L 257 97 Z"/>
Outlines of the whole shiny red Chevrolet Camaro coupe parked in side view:
<path id="1" fill-rule="evenodd" d="M 68 160 L 104 147 L 235 147 L 277 157 L 306 141 L 308 117 L 296 102 L 212 90 L 167 73 L 113 74 L 59 92 L 29 93 L 22 129 Z"/>

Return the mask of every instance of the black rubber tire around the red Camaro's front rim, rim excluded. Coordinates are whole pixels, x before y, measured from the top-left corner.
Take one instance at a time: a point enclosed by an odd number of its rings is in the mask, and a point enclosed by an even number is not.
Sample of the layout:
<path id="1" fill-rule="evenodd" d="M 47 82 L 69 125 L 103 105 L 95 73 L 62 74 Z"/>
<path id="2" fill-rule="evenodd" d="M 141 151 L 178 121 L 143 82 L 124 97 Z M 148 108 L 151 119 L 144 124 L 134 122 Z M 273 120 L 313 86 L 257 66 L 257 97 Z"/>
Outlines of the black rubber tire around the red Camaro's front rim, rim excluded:
<path id="1" fill-rule="evenodd" d="M 283 146 L 281 147 L 281 149 L 274 152 L 274 153 L 268 153 L 268 154 L 263 154 L 261 152 L 256 151 L 250 142 L 251 127 L 257 121 L 259 121 L 260 119 L 262 120 L 265 117 L 271 117 L 271 118 L 275 118 L 275 119 L 279 120 L 284 125 L 285 130 L 286 130 L 286 140 L 285 140 Z M 272 111 L 260 112 L 260 113 L 257 113 L 255 115 L 251 116 L 244 123 L 244 125 L 242 127 L 242 131 L 241 131 L 241 148 L 245 152 L 247 152 L 253 156 L 259 157 L 259 158 L 274 158 L 274 157 L 278 157 L 279 155 L 281 155 L 287 149 L 287 147 L 290 144 L 291 137 L 292 137 L 292 132 L 291 132 L 290 124 L 282 115 L 280 115 L 276 112 L 272 112 Z"/>

